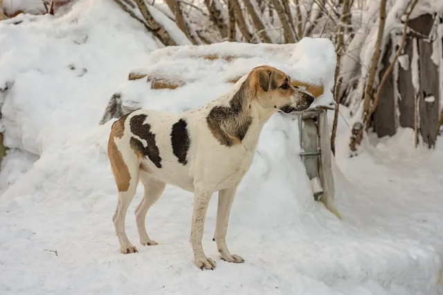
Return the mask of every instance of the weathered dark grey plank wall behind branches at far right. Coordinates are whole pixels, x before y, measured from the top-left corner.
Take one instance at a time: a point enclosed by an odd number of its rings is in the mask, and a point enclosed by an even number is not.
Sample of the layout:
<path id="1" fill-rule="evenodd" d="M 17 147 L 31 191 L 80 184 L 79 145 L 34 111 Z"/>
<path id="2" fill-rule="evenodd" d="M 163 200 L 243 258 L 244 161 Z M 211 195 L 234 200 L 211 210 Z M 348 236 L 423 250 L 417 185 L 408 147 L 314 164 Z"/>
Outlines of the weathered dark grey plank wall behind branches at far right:
<path id="1" fill-rule="evenodd" d="M 440 19 L 440 21 L 442 21 Z M 398 79 L 395 85 L 395 75 L 392 73 L 381 91 L 381 98 L 377 110 L 372 117 L 372 125 L 374 131 L 379 137 L 386 135 L 394 135 L 397 132 L 397 126 L 415 128 L 415 116 L 418 111 L 417 129 L 422 135 L 424 144 L 429 147 L 435 146 L 440 127 L 440 91 L 443 86 L 440 84 L 439 67 L 434 64 L 431 59 L 433 54 L 433 40 L 430 39 L 431 31 L 435 19 L 431 15 L 422 15 L 413 19 L 409 23 L 410 33 L 406 39 L 404 54 L 409 57 L 409 66 L 405 70 L 397 61 Z M 443 40 L 440 40 L 443 42 Z M 416 93 L 413 86 L 413 44 L 417 42 L 418 50 L 418 68 L 419 68 L 419 91 Z M 386 68 L 390 64 L 390 56 L 392 50 L 392 42 L 389 41 L 384 50 L 381 59 L 383 70 L 380 77 L 383 76 Z M 443 68 L 443 65 L 440 65 Z M 399 97 L 395 97 L 395 87 L 399 93 Z M 417 95 L 418 108 L 416 110 L 415 97 Z M 435 99 L 426 99 L 433 96 Z M 397 102 L 397 103 L 396 103 Z M 398 107 L 398 113 L 397 113 Z"/>

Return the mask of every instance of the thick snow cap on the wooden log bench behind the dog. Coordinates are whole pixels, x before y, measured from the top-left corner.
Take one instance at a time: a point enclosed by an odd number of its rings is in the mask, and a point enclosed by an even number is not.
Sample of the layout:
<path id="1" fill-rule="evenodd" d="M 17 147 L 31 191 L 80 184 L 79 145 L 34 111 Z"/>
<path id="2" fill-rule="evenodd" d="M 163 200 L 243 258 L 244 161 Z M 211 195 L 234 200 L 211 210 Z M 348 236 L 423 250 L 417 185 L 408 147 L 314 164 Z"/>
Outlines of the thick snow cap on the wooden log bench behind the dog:
<path id="1" fill-rule="evenodd" d="M 133 70 L 144 78 L 143 82 L 128 81 L 118 89 L 123 94 L 123 104 L 141 105 L 147 97 L 161 95 L 159 91 L 147 89 L 145 75 L 151 83 L 156 82 L 161 88 L 164 84 L 187 86 L 188 89 L 226 84 L 226 89 L 251 68 L 262 64 L 283 70 L 292 81 L 322 87 L 323 95 L 316 98 L 311 108 L 334 102 L 331 90 L 334 86 L 336 55 L 329 39 L 303 38 L 297 44 L 287 45 L 226 41 L 206 46 L 170 46 L 154 50 L 146 64 Z M 177 97 L 187 103 L 188 97 L 195 100 L 195 93 L 181 91 Z M 203 99 L 198 103 L 206 101 L 208 97 Z"/>

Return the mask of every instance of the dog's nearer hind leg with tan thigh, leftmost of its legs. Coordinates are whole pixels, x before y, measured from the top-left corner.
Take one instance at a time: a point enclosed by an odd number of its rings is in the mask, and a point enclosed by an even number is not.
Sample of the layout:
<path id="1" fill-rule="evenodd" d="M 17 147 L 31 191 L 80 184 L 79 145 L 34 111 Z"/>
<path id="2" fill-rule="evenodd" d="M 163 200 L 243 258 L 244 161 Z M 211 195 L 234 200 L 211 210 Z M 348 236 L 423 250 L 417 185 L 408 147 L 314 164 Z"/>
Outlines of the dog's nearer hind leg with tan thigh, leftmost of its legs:
<path id="1" fill-rule="evenodd" d="M 117 208 L 112 221 L 122 253 L 135 253 L 137 248 L 129 242 L 125 232 L 125 219 L 129 204 L 137 190 L 140 162 L 134 150 L 130 147 L 119 149 L 114 140 L 111 135 L 108 144 L 109 161 L 118 188 Z"/>

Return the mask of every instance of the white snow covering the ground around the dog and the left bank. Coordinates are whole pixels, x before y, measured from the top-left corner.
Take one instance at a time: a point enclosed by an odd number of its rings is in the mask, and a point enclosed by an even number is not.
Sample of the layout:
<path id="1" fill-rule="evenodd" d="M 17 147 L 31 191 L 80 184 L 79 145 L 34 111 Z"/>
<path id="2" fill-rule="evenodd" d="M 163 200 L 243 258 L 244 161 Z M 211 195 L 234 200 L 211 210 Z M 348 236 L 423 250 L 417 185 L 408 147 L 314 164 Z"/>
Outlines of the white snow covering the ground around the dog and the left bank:
<path id="1" fill-rule="evenodd" d="M 56 19 L 18 19 L 0 23 L 0 88 L 14 82 L 1 108 L 13 149 L 0 172 L 0 294 L 443 294 L 443 144 L 415 150 L 404 129 L 347 158 L 345 120 L 334 165 L 343 220 L 314 202 L 296 121 L 276 114 L 230 217 L 228 245 L 244 264 L 217 259 L 213 200 L 203 245 L 217 268 L 195 267 L 192 194 L 175 187 L 147 215 L 154 247 L 138 244 L 138 190 L 126 225 L 139 253 L 120 254 L 106 155 L 112 121 L 98 122 L 158 44 L 112 1 L 80 0 Z M 173 112 L 230 87 L 145 85 L 145 106 Z"/>

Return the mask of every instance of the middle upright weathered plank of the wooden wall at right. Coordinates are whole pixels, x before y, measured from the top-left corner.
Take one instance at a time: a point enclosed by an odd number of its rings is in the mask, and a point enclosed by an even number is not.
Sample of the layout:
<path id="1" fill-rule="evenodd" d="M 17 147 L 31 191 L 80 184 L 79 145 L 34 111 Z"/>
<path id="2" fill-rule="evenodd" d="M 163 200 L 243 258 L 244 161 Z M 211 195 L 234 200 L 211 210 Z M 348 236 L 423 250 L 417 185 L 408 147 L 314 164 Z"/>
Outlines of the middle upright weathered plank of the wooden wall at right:
<path id="1" fill-rule="evenodd" d="M 399 67 L 399 124 L 402 127 L 414 128 L 414 101 L 415 101 L 415 89 L 412 83 L 413 75 L 410 66 L 410 61 L 413 58 L 413 42 L 414 39 L 407 39 L 404 47 L 404 54 L 408 55 L 408 69 L 404 70 L 398 64 Z"/>

